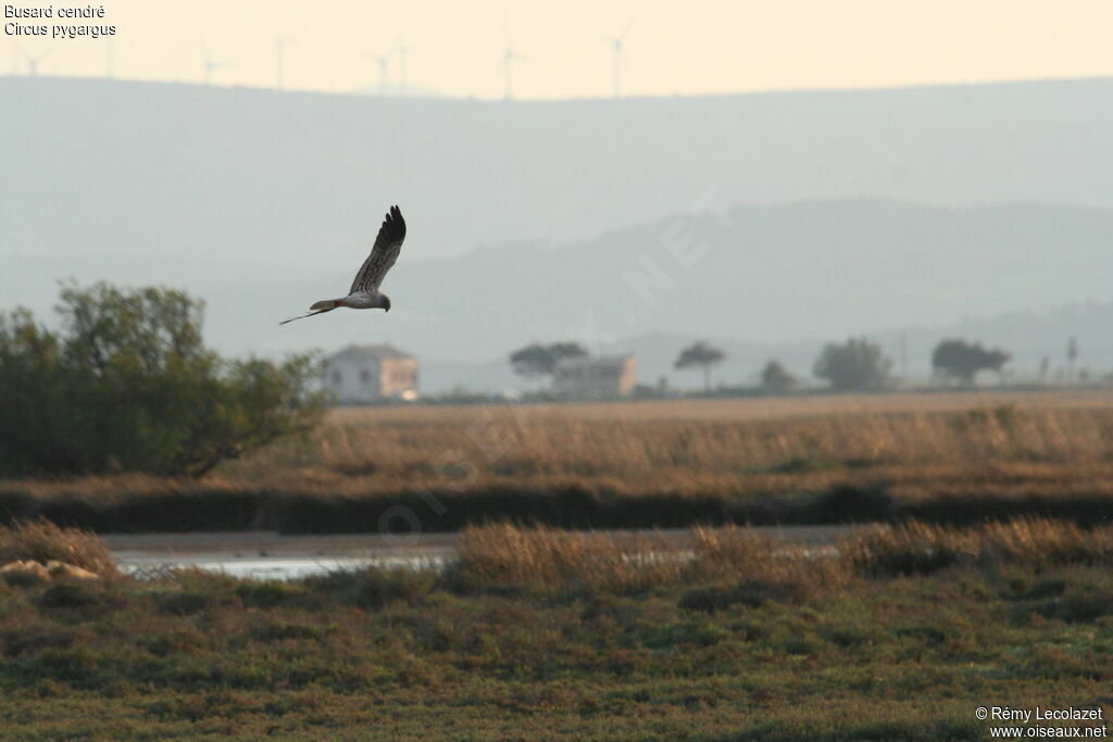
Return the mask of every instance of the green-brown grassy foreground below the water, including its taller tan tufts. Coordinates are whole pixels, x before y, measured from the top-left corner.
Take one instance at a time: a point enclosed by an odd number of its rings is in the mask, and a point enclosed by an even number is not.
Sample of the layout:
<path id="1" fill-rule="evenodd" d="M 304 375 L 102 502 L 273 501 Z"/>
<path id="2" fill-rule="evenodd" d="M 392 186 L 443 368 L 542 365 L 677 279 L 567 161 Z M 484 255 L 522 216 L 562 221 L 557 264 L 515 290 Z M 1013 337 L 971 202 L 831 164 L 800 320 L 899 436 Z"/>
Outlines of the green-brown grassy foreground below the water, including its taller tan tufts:
<path id="1" fill-rule="evenodd" d="M 0 724 L 6 739 L 975 739 L 981 705 L 1111 712 L 1111 528 L 913 524 L 838 555 L 730 530 L 696 543 L 684 561 L 495 526 L 439 575 L 0 582 Z"/>

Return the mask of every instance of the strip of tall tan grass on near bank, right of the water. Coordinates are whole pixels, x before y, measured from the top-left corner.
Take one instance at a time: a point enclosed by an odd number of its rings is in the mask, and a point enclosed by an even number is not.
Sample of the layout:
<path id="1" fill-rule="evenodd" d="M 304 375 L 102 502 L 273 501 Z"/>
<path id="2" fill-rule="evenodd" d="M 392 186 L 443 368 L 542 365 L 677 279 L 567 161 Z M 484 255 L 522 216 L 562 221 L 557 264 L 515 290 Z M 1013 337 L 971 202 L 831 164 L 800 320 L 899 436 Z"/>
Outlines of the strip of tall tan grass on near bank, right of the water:
<path id="1" fill-rule="evenodd" d="M 503 524 L 464 532 L 452 581 L 465 588 L 543 595 L 711 585 L 707 595 L 721 600 L 723 585 L 732 586 L 732 594 L 787 591 L 801 596 L 845 585 L 855 576 L 1111 564 L 1113 526 L 1085 530 L 1046 518 L 968 527 L 910 522 L 828 547 L 779 544 L 735 526 L 696 527 L 691 545 L 677 546 L 654 536 L 622 542 L 594 532 Z"/>

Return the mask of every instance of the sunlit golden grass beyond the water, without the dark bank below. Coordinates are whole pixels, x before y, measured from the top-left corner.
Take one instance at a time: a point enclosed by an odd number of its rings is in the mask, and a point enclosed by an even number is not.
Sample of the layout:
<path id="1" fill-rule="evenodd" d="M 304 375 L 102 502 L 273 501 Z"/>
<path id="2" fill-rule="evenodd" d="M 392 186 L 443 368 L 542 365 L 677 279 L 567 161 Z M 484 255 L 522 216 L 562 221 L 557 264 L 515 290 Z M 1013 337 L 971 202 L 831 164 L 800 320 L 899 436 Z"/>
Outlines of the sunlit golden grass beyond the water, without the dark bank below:
<path id="1" fill-rule="evenodd" d="M 729 412 L 731 403 L 722 403 Z M 784 403 L 788 409 L 791 402 Z M 772 419 L 679 405 L 346 410 L 309 441 L 226 467 L 228 476 L 296 465 L 342 476 L 456 478 L 470 483 L 552 477 L 644 481 L 899 464 L 1113 461 L 1113 406 L 977 405 L 955 410 L 838 412 Z M 629 409 L 627 409 L 629 408 Z M 577 409 L 581 410 L 577 415 Z M 807 409 L 807 407 L 804 407 Z"/>

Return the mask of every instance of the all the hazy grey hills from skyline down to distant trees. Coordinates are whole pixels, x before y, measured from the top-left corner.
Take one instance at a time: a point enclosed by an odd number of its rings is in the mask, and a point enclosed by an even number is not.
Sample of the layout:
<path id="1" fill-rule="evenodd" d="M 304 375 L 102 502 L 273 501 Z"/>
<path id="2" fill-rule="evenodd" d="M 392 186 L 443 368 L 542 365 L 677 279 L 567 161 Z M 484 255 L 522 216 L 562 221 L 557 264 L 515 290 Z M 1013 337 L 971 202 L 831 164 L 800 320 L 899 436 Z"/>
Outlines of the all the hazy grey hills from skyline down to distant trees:
<path id="1" fill-rule="evenodd" d="M 766 352 L 806 373 L 824 340 L 906 327 L 928 328 L 898 332 L 916 374 L 930 328 L 1031 366 L 1078 327 L 1113 366 L 1111 93 L 493 103 L 0 79 L 0 289 L 47 311 L 66 276 L 181 286 L 223 352 L 390 340 L 439 388 L 504 388 L 492 359 L 559 338 L 638 349 L 648 380 L 673 339 L 736 344 L 737 383 Z M 388 317 L 278 328 L 346 291 L 391 202 L 410 236 Z M 1025 311 L 1046 321 L 968 321 Z"/>

